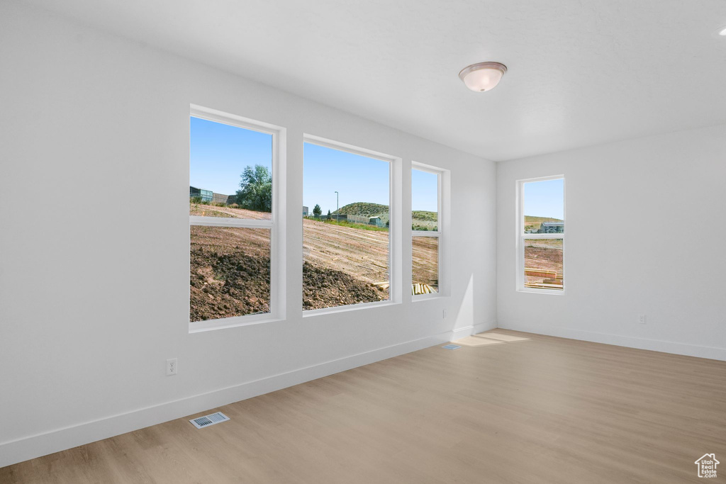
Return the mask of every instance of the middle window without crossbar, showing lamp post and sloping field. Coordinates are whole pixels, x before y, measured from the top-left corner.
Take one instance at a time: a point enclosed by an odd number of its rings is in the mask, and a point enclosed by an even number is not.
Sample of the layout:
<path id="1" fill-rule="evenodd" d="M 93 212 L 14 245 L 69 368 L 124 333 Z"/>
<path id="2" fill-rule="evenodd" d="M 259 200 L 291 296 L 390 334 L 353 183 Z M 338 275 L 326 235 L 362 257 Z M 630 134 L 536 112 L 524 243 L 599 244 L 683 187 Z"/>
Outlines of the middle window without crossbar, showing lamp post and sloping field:
<path id="1" fill-rule="evenodd" d="M 391 160 L 306 139 L 303 309 L 391 299 Z"/>

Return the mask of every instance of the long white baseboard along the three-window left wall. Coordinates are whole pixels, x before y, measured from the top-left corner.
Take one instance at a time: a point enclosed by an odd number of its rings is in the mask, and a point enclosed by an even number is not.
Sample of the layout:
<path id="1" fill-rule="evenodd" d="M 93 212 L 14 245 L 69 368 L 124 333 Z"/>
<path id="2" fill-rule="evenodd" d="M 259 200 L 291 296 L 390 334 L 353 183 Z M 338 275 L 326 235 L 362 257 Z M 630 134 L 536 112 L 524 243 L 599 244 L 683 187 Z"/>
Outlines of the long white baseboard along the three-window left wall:
<path id="1" fill-rule="evenodd" d="M 192 395 L 176 401 L 160 403 L 143 409 L 117 414 L 103 419 L 83 422 L 37 435 L 0 443 L 0 467 L 5 467 L 28 459 L 53 454 L 68 448 L 81 446 L 105 438 L 133 432 L 150 425 L 168 422 L 216 407 L 252 398 L 282 388 L 327 377 L 375 361 L 393 358 L 429 346 L 447 343 L 472 334 L 473 326 L 459 328 L 439 335 L 423 337 L 397 345 L 378 348 L 338 360 L 326 361 L 314 366 L 295 369 L 273 375 L 261 380 L 245 382 L 240 385 L 214 390 L 209 393 Z"/>

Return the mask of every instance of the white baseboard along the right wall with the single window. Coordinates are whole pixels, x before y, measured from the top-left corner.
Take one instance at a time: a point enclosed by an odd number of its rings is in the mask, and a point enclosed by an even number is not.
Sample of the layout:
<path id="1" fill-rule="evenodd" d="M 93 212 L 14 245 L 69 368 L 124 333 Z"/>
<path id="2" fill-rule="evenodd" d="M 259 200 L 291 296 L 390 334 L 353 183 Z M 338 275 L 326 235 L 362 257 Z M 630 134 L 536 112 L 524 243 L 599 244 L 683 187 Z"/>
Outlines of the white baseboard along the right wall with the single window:
<path id="1" fill-rule="evenodd" d="M 726 348 L 649 340 L 647 338 L 611 335 L 609 333 L 582 331 L 580 329 L 557 326 L 542 326 L 540 324 L 502 324 L 500 327 L 502 329 L 512 329 L 513 331 L 534 333 L 536 335 L 558 336 L 571 340 L 591 341 L 592 343 L 605 343 L 606 345 L 627 346 L 628 348 L 638 348 L 640 350 L 661 351 L 663 353 L 726 361 Z"/>

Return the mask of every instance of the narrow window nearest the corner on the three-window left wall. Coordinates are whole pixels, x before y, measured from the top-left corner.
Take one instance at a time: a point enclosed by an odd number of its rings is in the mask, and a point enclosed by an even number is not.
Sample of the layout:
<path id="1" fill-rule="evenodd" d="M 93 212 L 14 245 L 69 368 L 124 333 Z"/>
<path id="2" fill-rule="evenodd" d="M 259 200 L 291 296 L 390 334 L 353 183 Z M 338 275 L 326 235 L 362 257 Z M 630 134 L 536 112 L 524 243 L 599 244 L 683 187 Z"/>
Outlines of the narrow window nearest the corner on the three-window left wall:
<path id="1" fill-rule="evenodd" d="M 413 164 L 411 171 L 412 286 L 414 297 L 439 293 L 441 171 Z"/>

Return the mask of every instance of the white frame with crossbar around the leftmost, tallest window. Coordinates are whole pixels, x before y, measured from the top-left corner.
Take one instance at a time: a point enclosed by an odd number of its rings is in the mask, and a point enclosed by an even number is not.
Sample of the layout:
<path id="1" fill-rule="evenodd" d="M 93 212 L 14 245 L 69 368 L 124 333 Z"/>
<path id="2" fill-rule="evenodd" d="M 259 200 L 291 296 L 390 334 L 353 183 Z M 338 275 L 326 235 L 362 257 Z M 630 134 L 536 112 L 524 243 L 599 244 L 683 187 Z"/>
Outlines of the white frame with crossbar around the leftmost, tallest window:
<path id="1" fill-rule="evenodd" d="M 213 110 L 197 104 L 189 105 L 189 118 L 200 118 L 214 123 L 226 124 L 272 135 L 272 213 L 270 220 L 246 218 L 218 218 L 189 216 L 191 226 L 232 227 L 237 229 L 269 229 L 270 231 L 270 311 L 264 314 L 246 314 L 229 318 L 189 321 L 189 332 L 203 332 L 211 329 L 246 326 L 285 319 L 285 140 L 286 130 L 262 121 L 243 118 L 229 112 Z M 189 145 L 192 133 L 189 131 Z M 189 237 L 189 266 L 191 265 L 191 237 Z M 191 290 L 189 290 L 191 303 Z"/>

